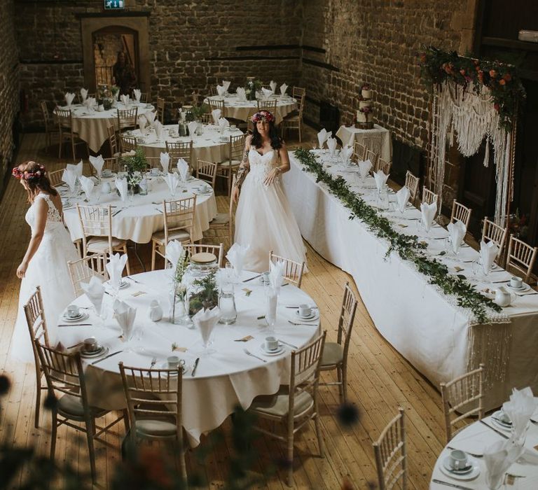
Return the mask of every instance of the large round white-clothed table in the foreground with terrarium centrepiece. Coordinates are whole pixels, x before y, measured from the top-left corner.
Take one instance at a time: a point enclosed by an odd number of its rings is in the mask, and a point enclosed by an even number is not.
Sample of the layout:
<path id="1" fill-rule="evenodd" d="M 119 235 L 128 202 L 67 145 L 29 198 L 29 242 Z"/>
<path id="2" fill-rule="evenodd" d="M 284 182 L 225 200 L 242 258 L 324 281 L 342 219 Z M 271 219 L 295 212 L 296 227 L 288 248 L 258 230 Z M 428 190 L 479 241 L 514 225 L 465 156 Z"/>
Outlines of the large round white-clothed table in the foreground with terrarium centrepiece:
<path id="1" fill-rule="evenodd" d="M 95 359 L 83 359 L 90 405 L 104 409 L 123 409 L 126 406 L 118 363 L 149 368 L 156 357 L 156 367 L 166 367 L 167 356 L 177 355 L 185 360 L 187 371 L 183 378 L 183 425 L 191 446 L 200 442 L 200 435 L 217 428 L 233 409 L 240 404 L 244 409 L 258 395 L 276 393 L 280 384 L 289 381 L 289 353 L 291 347 L 284 345 L 279 355 L 267 355 L 261 349 L 267 335 L 275 335 L 284 342 L 301 347 L 314 339 L 319 332 L 319 318 L 309 325 L 291 325 L 288 320 L 296 318 L 296 310 L 286 308 L 307 303 L 315 304 L 312 298 L 293 285 L 281 290 L 277 307 L 275 334 L 257 317 L 265 313 L 263 286 L 254 279 L 235 286 L 237 321 L 233 325 L 217 324 L 214 330 L 214 353 L 204 356 L 200 332 L 168 321 L 172 269 L 145 272 L 132 276 L 135 281 L 125 279 L 129 286 L 120 289 L 118 298 L 137 309 L 135 333 L 129 342 L 118 338 L 120 327 L 110 313 L 113 298 L 104 295 L 104 311 L 109 311 L 102 321 L 92 308 L 85 309 L 89 317 L 80 323 L 92 326 L 69 325 L 58 328 L 58 339 L 64 346 L 74 346 L 83 339 L 95 336 L 97 341 L 108 347 L 108 353 L 120 353 L 93 365 Z M 248 279 L 254 272 L 243 272 L 240 279 Z M 247 296 L 244 288 L 251 290 Z M 164 316 L 161 321 L 149 320 L 148 311 L 152 300 L 159 300 Z M 88 297 L 82 295 L 72 304 L 90 307 Z M 66 323 L 60 317 L 59 323 Z M 254 337 L 247 342 L 236 342 L 247 335 Z M 177 344 L 172 351 L 172 344 Z M 265 359 L 263 362 L 247 356 L 243 349 Z M 193 363 L 200 358 L 195 376 Z"/>

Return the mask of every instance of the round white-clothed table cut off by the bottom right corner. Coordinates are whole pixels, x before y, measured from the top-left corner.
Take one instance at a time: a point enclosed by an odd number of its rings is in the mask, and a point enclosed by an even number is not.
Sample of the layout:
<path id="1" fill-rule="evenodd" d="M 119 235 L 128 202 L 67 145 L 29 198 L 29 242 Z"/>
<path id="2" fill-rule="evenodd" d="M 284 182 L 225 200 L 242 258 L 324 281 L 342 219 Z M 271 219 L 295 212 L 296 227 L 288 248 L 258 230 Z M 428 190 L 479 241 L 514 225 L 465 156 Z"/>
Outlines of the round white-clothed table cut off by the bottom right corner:
<path id="1" fill-rule="evenodd" d="M 538 410 L 534 412 L 532 419 L 538 421 Z M 499 432 L 504 433 L 506 437 L 509 437 L 510 431 L 504 430 L 501 426 L 495 425 L 495 421 L 491 419 L 490 416 L 483 419 L 490 427 L 499 430 Z M 485 483 L 485 473 L 486 467 L 483 458 L 484 449 L 490 447 L 492 444 L 499 440 L 504 440 L 502 435 L 499 435 L 492 430 L 492 428 L 486 427 L 480 421 L 474 422 L 471 425 L 467 426 L 459 433 L 457 433 L 450 443 L 437 458 L 437 461 L 434 466 L 434 471 L 432 472 L 432 481 L 429 484 L 430 490 L 446 490 L 450 488 L 445 484 L 436 483 L 435 480 L 450 483 L 452 485 L 460 485 L 469 490 L 483 490 L 487 489 L 488 485 Z M 525 440 L 525 454 L 521 456 L 518 461 L 513 463 L 506 473 L 509 475 L 518 475 L 519 478 L 515 478 L 513 484 L 509 483 L 509 479 L 506 479 L 506 485 L 501 486 L 502 490 L 523 490 L 523 489 L 536 489 L 538 488 L 538 451 L 533 448 L 538 444 L 538 425 L 529 422 L 529 427 L 527 429 L 527 438 Z M 478 467 L 479 475 L 473 479 L 456 479 L 455 477 L 450 477 L 441 471 L 441 465 L 443 461 L 450 454 L 451 449 L 460 449 L 469 454 L 476 454 L 478 457 L 471 456 L 471 462 Z"/>

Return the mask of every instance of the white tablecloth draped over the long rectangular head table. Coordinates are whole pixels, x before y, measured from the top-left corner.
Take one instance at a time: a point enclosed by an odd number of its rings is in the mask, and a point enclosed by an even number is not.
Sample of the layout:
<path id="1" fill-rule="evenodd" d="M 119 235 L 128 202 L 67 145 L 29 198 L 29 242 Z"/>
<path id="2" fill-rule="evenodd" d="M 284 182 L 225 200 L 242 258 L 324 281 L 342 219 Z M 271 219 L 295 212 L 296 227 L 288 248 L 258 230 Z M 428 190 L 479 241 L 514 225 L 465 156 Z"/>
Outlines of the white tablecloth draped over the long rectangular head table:
<path id="1" fill-rule="evenodd" d="M 485 363 L 487 352 L 470 352 L 471 327 L 467 310 L 456 306 L 455 298 L 447 297 L 439 288 L 430 285 L 427 277 L 410 263 L 392 253 L 385 257 L 387 244 L 375 237 L 359 220 L 350 221 L 350 213 L 340 200 L 315 182 L 315 176 L 303 172 L 298 160 L 291 158 L 291 172 L 284 176 L 284 188 L 298 221 L 301 234 L 326 260 L 352 274 L 361 298 L 375 327 L 394 348 L 409 360 L 435 386 L 467 372 L 469 356 Z M 331 168 L 331 171 L 337 167 Z M 350 174 L 344 174 L 349 176 Z M 373 179 L 368 186 L 374 188 Z M 363 190 L 364 191 L 364 190 Z M 372 193 L 366 190 L 366 193 Z M 367 197 L 367 196 L 366 196 Z M 394 196 L 392 196 L 394 200 Z M 393 217 L 395 214 L 392 215 Z M 406 211 L 406 218 L 418 218 L 420 211 Z M 407 228 L 402 232 L 416 235 L 417 221 L 395 220 Z M 396 226 L 398 226 L 396 224 Z M 446 236 L 446 230 L 434 228 L 433 237 Z M 432 254 L 439 260 L 443 240 L 430 240 Z M 478 254 L 470 247 L 462 248 L 461 260 L 472 260 Z M 456 273 L 451 263 L 450 271 Z M 471 277 L 471 264 L 463 263 L 461 274 Z M 491 274 L 493 281 L 509 277 L 506 272 Z M 495 287 L 491 283 L 479 288 Z M 538 391 L 538 295 L 517 297 L 512 306 L 503 310 L 509 316 L 509 361 L 504 381 L 495 386 L 485 398 L 488 408 L 500 405 L 511 388 L 531 386 Z M 504 328 L 492 325 L 488 328 Z M 476 328 L 481 328 L 480 326 Z"/>

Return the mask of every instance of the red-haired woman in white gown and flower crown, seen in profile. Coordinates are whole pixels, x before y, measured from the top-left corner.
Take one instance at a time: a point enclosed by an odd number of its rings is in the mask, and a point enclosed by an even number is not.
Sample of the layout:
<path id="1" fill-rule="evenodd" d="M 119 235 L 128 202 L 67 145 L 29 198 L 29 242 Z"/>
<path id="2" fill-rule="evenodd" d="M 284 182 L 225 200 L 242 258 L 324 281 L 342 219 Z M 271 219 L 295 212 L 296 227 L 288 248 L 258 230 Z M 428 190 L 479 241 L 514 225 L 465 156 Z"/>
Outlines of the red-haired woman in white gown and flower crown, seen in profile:
<path id="1" fill-rule="evenodd" d="M 50 344 L 56 342 L 57 318 L 74 299 L 68 260 L 77 260 L 76 248 L 64 228 L 62 200 L 50 185 L 43 165 L 25 162 L 13 169 L 13 176 L 27 190 L 31 203 L 25 219 L 32 228 L 32 239 L 25 257 L 17 269 L 20 283 L 19 308 L 11 341 L 11 356 L 16 360 L 34 362 L 23 305 L 41 286 L 43 309 L 47 321 Z"/>

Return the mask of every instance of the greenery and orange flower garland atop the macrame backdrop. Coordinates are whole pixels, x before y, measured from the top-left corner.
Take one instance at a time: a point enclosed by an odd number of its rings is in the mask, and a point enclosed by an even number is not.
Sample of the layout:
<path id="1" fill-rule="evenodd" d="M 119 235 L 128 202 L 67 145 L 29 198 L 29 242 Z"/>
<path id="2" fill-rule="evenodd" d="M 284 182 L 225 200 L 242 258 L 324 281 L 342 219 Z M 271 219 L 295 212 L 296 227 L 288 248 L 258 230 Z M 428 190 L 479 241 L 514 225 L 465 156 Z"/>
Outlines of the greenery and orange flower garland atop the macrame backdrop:
<path id="1" fill-rule="evenodd" d="M 488 87 L 492 103 L 499 113 L 499 127 L 511 132 L 516 107 L 525 100 L 525 88 L 517 69 L 498 61 L 460 56 L 455 51 L 443 51 L 433 46 L 421 52 L 420 69 L 427 85 L 441 85 L 452 80 L 464 90 L 471 85 L 478 94 Z"/>

